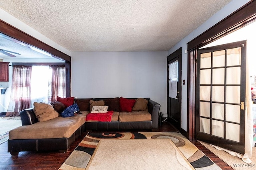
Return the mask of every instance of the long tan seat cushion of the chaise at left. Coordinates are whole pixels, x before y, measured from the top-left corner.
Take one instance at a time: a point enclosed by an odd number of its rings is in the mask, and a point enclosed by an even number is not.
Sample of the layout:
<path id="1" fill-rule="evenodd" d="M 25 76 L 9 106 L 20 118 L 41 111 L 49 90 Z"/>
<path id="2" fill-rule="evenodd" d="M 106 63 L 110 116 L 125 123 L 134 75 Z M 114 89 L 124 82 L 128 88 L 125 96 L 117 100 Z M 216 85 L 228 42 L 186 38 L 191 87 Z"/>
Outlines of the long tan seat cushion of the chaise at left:
<path id="1" fill-rule="evenodd" d="M 56 117 L 32 125 L 20 126 L 9 132 L 9 139 L 69 138 L 85 123 L 86 114 L 88 112 L 84 111 L 82 114 L 75 114 L 72 117 Z"/>

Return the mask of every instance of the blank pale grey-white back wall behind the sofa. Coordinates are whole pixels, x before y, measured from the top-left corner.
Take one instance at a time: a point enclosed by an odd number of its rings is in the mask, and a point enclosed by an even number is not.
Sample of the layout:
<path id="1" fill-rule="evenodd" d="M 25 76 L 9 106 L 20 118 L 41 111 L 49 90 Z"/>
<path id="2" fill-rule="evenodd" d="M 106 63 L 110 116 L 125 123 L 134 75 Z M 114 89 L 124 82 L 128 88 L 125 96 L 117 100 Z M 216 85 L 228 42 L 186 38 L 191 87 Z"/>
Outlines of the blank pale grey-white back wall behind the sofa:
<path id="1" fill-rule="evenodd" d="M 72 96 L 149 97 L 166 113 L 167 51 L 72 52 L 71 56 Z"/>

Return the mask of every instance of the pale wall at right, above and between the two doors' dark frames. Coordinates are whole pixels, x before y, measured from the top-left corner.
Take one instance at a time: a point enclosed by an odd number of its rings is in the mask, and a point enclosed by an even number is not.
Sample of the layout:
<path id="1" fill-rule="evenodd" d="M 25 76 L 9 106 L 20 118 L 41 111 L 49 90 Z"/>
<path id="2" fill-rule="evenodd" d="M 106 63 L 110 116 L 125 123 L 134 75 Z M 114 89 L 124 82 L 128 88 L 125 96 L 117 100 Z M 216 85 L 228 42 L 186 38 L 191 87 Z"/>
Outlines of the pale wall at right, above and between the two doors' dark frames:
<path id="1" fill-rule="evenodd" d="M 182 47 L 182 80 L 185 80 L 185 85 L 182 85 L 182 115 L 181 115 L 181 127 L 186 131 L 187 129 L 187 72 L 188 72 L 188 54 L 185 53 L 185 49 L 187 49 L 187 43 L 224 19 L 226 16 L 232 14 L 232 12 L 236 11 L 238 8 L 249 2 L 250 0 L 232 0 L 229 4 L 227 4 L 224 8 L 222 8 L 219 12 L 214 14 L 209 20 L 200 25 L 196 30 L 182 39 L 179 43 L 174 45 L 169 51 L 168 55 Z"/>

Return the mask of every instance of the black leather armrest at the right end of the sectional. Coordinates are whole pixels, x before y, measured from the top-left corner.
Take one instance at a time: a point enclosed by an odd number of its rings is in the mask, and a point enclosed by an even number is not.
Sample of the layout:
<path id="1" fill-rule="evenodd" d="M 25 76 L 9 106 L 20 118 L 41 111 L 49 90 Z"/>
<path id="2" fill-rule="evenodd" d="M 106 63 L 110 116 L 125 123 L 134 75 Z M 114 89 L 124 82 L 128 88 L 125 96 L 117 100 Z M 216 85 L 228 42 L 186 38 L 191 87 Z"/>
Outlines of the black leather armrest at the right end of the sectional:
<path id="1" fill-rule="evenodd" d="M 152 117 L 152 129 L 158 129 L 158 113 L 160 110 L 160 104 L 153 100 L 148 100 L 148 112 Z"/>

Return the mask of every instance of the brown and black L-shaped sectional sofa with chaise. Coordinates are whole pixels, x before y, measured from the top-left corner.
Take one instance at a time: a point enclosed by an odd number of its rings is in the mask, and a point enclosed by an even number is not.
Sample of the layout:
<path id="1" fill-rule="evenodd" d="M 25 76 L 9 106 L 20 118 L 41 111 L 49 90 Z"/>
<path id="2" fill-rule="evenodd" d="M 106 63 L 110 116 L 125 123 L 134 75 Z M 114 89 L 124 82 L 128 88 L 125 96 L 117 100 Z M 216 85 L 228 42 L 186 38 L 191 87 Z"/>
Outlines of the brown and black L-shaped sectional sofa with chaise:
<path id="1" fill-rule="evenodd" d="M 122 110 L 127 109 L 124 100 L 135 101 L 132 110 Z M 44 106 L 42 108 L 38 108 L 39 104 L 34 104 L 34 108 L 22 110 L 20 112 L 22 126 L 9 132 L 8 152 L 13 156 L 18 155 L 20 151 L 59 150 L 66 152 L 84 131 L 145 129 L 157 131 L 158 129 L 160 104 L 150 100 L 150 98 L 90 98 L 76 99 L 74 102 L 78 104 L 80 114 L 75 114 L 72 117 L 56 117 L 56 113 L 52 109 L 58 112 L 62 111 L 63 108 L 60 109 L 61 102 L 55 102 L 52 105 L 42 104 Z M 111 121 L 86 121 L 86 115 L 89 115 L 93 106 L 98 105 L 108 106 L 108 110 L 113 111 Z M 51 113 L 44 115 L 45 110 L 49 109 L 48 107 L 50 107 Z M 38 115 L 40 111 L 43 114 Z M 52 115 L 54 117 L 51 117 Z"/>

